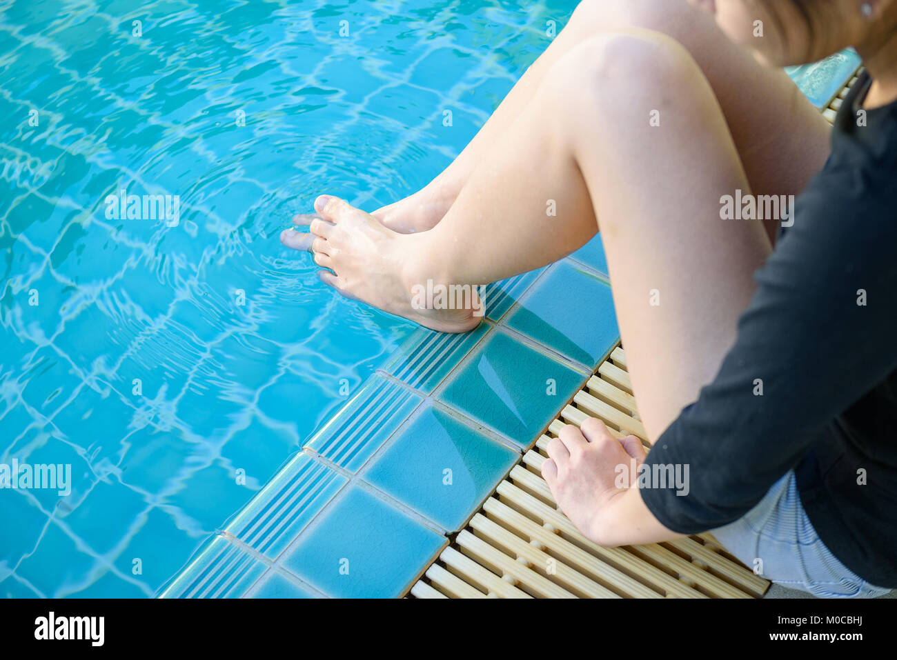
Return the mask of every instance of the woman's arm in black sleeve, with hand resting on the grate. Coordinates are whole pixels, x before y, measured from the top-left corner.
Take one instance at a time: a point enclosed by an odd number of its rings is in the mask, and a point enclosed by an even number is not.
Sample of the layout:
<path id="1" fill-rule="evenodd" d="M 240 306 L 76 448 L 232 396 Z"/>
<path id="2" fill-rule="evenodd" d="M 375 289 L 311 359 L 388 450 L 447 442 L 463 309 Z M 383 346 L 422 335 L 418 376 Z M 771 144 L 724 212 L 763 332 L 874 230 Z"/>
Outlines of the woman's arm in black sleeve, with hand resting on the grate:
<path id="1" fill-rule="evenodd" d="M 564 427 L 549 444 L 544 478 L 592 541 L 654 543 L 736 520 L 826 424 L 897 367 L 897 222 L 861 200 L 839 208 L 830 196 L 809 194 L 812 224 L 798 215 L 757 272 L 759 288 L 716 378 L 645 461 L 687 465 L 687 488 L 618 485 L 620 466 L 641 462 L 643 449 L 594 419 L 581 432 Z"/>

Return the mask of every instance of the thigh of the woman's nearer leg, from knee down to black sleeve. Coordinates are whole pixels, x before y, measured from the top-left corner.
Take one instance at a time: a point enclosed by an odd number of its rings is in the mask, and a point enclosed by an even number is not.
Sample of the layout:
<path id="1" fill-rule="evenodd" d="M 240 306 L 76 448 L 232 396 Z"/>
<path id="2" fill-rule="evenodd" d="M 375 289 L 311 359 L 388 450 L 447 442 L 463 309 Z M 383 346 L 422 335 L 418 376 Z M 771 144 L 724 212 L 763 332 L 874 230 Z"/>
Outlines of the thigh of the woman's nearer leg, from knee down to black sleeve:
<path id="1" fill-rule="evenodd" d="M 687 51 L 656 33 L 597 40 L 604 94 L 583 106 L 588 135 L 572 149 L 653 441 L 715 375 L 771 244 L 760 222 L 720 220 L 720 197 L 750 185 L 718 100 Z"/>

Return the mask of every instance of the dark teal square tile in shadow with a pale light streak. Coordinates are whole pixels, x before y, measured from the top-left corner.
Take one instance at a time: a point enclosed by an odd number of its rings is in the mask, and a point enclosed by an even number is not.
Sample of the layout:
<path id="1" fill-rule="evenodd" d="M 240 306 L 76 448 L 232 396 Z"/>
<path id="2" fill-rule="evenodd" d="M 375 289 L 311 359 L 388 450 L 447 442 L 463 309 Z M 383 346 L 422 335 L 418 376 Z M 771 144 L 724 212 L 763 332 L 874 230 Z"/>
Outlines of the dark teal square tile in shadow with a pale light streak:
<path id="1" fill-rule="evenodd" d="M 588 378 L 503 333 L 493 333 L 437 398 L 530 447 Z"/>

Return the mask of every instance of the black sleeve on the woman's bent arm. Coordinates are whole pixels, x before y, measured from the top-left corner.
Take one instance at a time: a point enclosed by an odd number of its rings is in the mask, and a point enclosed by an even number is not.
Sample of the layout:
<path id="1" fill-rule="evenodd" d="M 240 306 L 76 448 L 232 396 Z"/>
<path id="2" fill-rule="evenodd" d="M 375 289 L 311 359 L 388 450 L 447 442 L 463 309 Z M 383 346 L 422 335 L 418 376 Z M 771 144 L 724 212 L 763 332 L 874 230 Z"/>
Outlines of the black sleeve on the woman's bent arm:
<path id="1" fill-rule="evenodd" d="M 867 183 L 823 172 L 801 196 L 717 376 L 651 449 L 648 465 L 689 466 L 687 494 L 641 490 L 667 528 L 696 534 L 744 516 L 897 367 L 897 218 L 864 200 Z"/>

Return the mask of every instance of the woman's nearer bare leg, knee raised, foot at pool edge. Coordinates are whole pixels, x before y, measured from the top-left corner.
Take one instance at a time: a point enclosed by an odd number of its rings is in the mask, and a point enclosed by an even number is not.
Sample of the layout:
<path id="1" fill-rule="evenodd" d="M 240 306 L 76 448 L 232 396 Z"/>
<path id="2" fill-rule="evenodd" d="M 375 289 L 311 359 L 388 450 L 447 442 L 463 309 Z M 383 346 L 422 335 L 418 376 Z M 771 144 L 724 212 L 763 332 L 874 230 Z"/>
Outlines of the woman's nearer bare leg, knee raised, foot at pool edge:
<path id="1" fill-rule="evenodd" d="M 656 439 L 718 369 L 771 250 L 760 223 L 719 219 L 720 196 L 736 189 L 750 190 L 745 170 L 687 52 L 657 33 L 608 35 L 553 68 L 432 230 L 389 232 L 338 200 L 322 213 L 335 224 L 312 230 L 318 263 L 336 274 L 325 282 L 435 326 L 409 309 L 414 283 L 481 284 L 551 263 L 600 217 L 636 398 Z M 655 289 L 659 307 L 649 305 Z M 471 319 L 435 320 L 466 329 Z"/>

